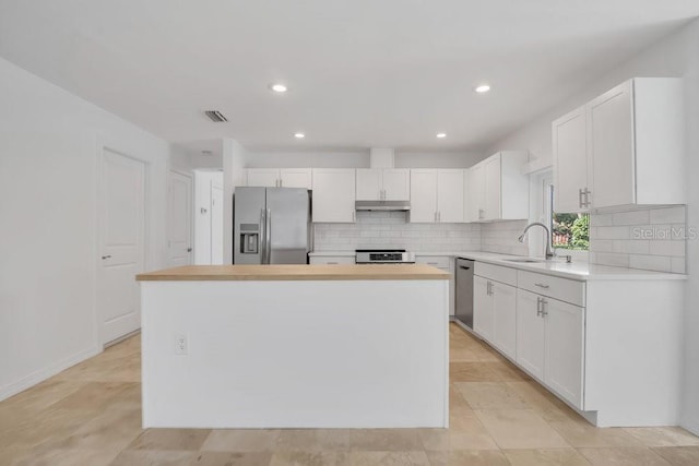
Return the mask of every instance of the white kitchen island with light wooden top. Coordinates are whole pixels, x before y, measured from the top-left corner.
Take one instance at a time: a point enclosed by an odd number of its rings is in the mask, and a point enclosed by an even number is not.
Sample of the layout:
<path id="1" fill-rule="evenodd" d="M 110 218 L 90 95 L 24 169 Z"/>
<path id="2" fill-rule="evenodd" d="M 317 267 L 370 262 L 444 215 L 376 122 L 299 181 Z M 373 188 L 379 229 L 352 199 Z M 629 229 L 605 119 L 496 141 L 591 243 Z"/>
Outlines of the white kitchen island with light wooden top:
<path id="1" fill-rule="evenodd" d="M 143 427 L 448 427 L 449 274 L 200 265 L 141 274 Z"/>

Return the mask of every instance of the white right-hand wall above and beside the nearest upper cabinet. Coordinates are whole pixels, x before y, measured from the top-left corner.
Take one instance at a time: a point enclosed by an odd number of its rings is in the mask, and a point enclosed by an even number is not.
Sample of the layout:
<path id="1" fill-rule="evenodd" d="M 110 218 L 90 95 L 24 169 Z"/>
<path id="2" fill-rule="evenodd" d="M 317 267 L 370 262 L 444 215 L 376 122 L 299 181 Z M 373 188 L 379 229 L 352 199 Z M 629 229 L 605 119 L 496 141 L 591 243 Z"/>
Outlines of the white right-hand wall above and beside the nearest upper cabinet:
<path id="1" fill-rule="evenodd" d="M 616 84 L 635 76 L 684 76 L 687 117 L 687 163 L 689 187 L 687 223 L 699 226 L 699 20 L 679 32 L 665 37 L 651 48 L 619 64 L 595 82 L 581 88 L 574 96 L 560 103 L 541 118 L 496 143 L 491 151 L 502 147 L 528 148 L 532 158 L 552 158 L 550 123 L 559 116 L 584 104 Z M 485 237 L 485 231 L 483 232 Z M 687 268 L 690 273 L 686 287 L 685 312 L 685 395 L 683 426 L 699 433 L 699 241 L 687 244 Z"/>

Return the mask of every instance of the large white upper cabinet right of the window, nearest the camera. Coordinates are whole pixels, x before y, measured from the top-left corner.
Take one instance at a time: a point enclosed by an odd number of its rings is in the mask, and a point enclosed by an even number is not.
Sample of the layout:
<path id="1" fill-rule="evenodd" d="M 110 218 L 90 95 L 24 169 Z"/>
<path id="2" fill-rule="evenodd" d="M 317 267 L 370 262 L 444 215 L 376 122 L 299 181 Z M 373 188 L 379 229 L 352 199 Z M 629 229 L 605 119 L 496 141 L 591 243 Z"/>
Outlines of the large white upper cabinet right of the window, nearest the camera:
<path id="1" fill-rule="evenodd" d="M 683 115 L 682 80 L 637 77 L 554 121 L 556 211 L 686 203 Z"/>

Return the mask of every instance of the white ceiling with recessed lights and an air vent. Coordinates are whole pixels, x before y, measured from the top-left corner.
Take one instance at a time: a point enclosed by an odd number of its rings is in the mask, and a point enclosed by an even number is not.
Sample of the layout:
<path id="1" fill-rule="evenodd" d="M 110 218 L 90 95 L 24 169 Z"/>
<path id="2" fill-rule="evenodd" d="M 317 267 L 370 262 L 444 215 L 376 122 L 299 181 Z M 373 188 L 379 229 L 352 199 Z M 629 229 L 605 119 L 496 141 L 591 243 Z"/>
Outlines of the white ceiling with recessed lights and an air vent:
<path id="1" fill-rule="evenodd" d="M 0 0 L 0 56 L 171 142 L 467 151 L 697 15 L 696 0 Z"/>

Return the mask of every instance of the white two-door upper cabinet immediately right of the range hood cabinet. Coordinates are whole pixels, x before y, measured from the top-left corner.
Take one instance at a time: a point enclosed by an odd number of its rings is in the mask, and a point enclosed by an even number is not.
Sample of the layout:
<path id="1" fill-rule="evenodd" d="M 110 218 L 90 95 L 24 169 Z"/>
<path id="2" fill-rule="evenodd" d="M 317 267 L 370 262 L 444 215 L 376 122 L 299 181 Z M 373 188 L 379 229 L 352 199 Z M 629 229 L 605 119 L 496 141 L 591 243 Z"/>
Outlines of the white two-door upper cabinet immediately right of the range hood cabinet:
<path id="1" fill-rule="evenodd" d="M 464 170 L 411 170 L 411 223 L 464 222 Z"/>

